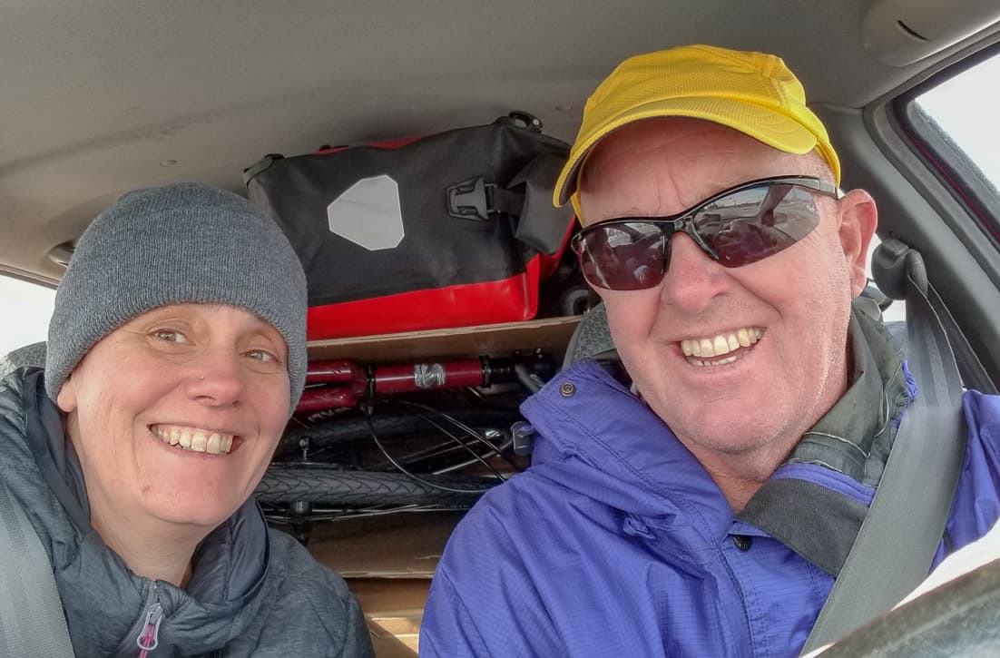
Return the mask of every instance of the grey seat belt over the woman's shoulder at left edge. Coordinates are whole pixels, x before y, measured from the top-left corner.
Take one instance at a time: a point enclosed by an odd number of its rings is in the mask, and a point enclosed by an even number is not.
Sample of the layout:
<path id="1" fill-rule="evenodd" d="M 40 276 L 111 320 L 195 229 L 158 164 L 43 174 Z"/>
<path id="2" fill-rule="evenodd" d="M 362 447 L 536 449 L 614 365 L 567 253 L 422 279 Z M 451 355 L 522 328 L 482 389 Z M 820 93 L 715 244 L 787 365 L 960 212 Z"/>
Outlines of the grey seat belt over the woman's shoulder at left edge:
<path id="1" fill-rule="evenodd" d="M 72 658 L 49 556 L 0 481 L 0 656 Z"/>

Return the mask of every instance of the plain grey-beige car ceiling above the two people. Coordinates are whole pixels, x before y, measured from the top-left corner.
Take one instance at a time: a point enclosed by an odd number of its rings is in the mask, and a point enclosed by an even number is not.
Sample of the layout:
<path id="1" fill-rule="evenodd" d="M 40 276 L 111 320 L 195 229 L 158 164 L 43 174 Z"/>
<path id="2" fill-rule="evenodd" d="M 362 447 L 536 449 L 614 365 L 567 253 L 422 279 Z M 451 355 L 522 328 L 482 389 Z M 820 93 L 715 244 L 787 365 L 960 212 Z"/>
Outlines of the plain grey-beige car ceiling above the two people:
<path id="1" fill-rule="evenodd" d="M 243 168 L 266 153 L 427 134 L 510 110 L 570 140 L 588 94 L 639 52 L 693 42 L 775 52 L 812 103 L 863 108 L 961 45 L 887 65 L 866 47 L 869 8 L 0 0 L 0 268 L 55 281 L 50 250 L 122 192 L 179 180 L 242 191 Z"/>

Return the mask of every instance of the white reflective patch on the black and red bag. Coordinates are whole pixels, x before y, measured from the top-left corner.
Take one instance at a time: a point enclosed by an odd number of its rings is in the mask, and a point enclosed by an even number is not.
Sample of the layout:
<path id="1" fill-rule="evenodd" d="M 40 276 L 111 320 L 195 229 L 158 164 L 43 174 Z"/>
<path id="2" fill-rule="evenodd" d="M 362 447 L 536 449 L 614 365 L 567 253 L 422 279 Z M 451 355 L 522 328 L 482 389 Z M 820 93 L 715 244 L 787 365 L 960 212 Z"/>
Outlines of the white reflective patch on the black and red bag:
<path id="1" fill-rule="evenodd" d="M 403 240 L 399 185 L 382 174 L 363 178 L 326 207 L 330 232 L 368 249 L 392 249 Z"/>

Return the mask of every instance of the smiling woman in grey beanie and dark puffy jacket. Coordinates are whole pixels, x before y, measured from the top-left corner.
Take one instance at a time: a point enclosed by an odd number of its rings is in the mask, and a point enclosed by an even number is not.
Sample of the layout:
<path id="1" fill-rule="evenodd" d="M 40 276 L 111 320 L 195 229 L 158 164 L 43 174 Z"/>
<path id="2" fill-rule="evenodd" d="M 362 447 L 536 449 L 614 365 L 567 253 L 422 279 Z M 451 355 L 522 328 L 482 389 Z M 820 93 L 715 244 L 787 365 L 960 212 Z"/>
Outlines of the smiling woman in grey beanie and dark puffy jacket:
<path id="1" fill-rule="evenodd" d="M 127 194 L 80 238 L 44 373 L 0 385 L 0 477 L 77 655 L 371 654 L 344 581 L 251 495 L 302 392 L 305 285 L 266 215 L 204 185 Z"/>

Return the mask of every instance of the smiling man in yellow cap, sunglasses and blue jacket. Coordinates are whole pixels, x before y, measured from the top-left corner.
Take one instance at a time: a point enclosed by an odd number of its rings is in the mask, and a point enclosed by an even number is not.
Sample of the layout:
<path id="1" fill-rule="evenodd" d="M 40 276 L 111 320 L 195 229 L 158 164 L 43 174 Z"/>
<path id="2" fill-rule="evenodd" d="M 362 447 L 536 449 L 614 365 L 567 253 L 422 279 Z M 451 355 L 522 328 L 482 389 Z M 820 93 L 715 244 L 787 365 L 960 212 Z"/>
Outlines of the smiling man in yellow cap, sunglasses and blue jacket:
<path id="1" fill-rule="evenodd" d="M 556 202 L 637 395 L 584 361 L 523 405 L 532 467 L 456 529 L 421 655 L 801 649 L 916 393 L 852 303 L 877 216 L 839 183 L 777 57 L 686 46 L 598 87 Z M 1000 400 L 964 402 L 949 549 L 998 516 Z"/>

